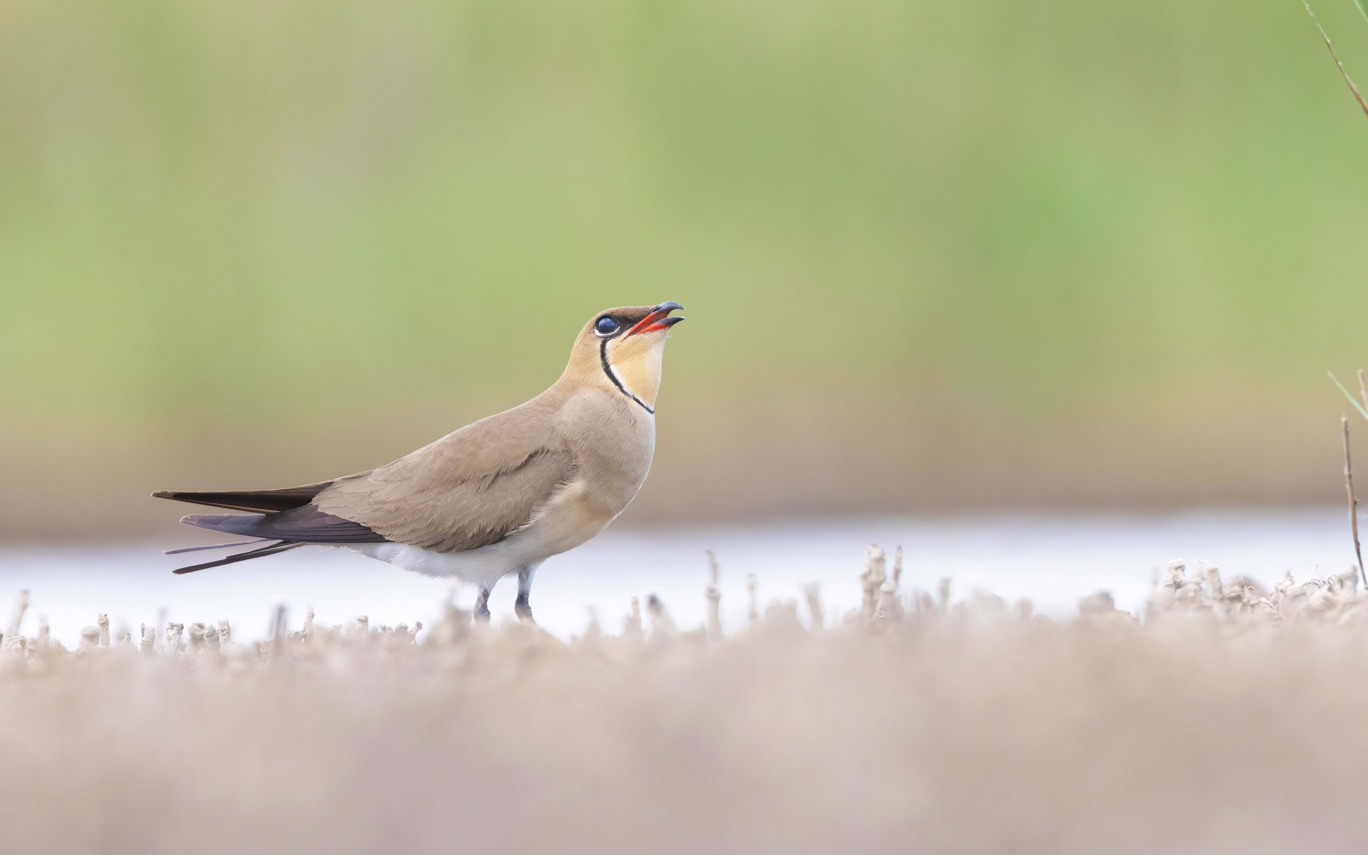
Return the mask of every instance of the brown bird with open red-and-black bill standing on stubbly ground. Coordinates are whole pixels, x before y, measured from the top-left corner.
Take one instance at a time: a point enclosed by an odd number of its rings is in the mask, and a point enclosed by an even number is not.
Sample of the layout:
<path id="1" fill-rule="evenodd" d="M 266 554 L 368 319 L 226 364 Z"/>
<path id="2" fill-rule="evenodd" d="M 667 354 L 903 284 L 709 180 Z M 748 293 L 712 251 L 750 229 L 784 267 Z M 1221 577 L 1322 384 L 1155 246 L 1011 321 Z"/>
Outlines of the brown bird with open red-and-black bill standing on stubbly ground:
<path id="1" fill-rule="evenodd" d="M 517 576 L 514 611 L 534 622 L 538 566 L 590 540 L 636 497 L 655 453 L 655 399 L 673 301 L 596 313 L 550 389 L 368 472 L 280 490 L 152 495 L 237 512 L 189 514 L 186 525 L 250 538 L 168 554 L 252 546 L 185 566 L 193 573 L 300 546 L 345 547 L 490 592 Z"/>

